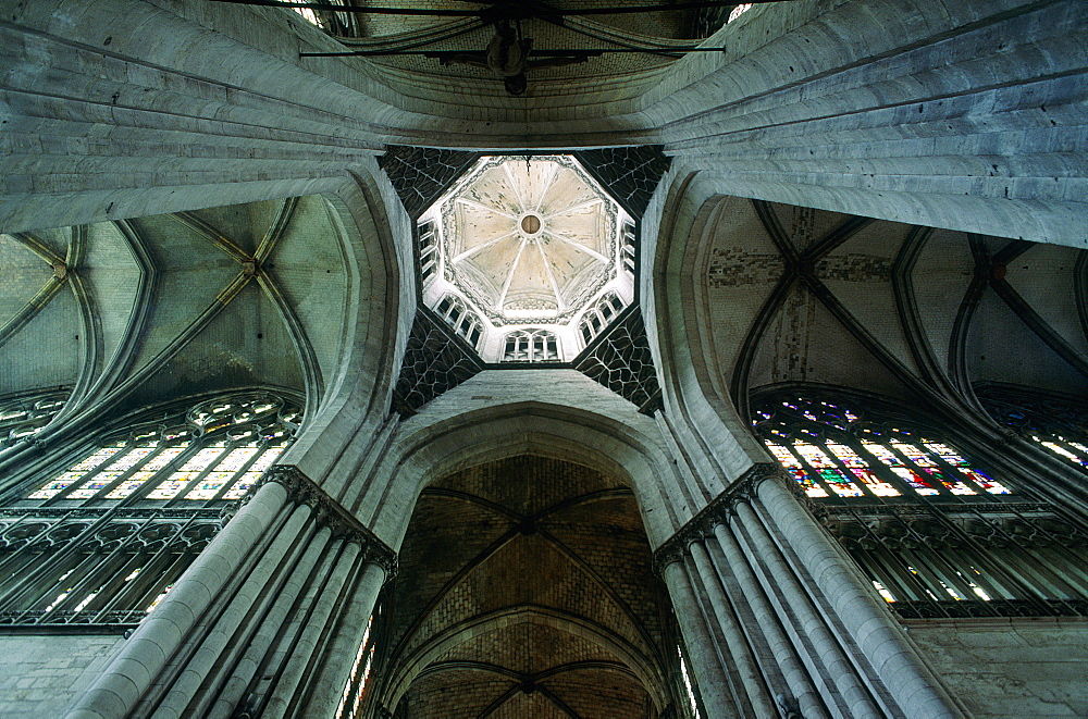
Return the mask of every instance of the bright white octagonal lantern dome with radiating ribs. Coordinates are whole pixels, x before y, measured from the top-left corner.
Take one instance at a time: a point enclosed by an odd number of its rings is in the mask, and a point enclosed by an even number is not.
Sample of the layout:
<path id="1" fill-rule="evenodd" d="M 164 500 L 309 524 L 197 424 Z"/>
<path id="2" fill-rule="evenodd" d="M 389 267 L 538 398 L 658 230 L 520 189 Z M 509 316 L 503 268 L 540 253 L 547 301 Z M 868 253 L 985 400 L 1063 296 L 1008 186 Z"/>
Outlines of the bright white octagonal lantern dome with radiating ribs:
<path id="1" fill-rule="evenodd" d="M 571 156 L 481 158 L 420 216 L 423 302 L 453 296 L 480 318 L 469 342 L 484 361 L 516 361 L 507 339 L 528 333 L 554 335 L 558 351 L 522 361 L 569 362 L 602 298 L 634 299 L 633 227 Z"/>

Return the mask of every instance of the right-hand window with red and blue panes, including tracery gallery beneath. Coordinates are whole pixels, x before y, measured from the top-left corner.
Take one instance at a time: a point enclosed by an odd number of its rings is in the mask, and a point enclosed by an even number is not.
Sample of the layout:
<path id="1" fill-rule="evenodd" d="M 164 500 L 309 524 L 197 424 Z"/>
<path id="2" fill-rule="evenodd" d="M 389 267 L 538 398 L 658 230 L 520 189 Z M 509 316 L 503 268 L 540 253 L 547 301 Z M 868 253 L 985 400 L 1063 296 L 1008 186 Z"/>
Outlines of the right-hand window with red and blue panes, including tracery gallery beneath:
<path id="1" fill-rule="evenodd" d="M 1088 615 L 1088 528 L 938 427 L 793 393 L 763 397 L 753 417 L 814 513 L 900 616 Z"/>

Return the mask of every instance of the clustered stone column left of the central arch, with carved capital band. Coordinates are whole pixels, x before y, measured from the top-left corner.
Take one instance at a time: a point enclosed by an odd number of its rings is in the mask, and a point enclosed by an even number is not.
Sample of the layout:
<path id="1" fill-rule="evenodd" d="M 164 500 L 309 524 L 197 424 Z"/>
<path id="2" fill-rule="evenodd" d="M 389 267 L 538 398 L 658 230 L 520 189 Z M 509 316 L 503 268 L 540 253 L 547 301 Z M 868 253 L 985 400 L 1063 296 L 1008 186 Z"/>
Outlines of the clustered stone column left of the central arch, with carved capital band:
<path id="1" fill-rule="evenodd" d="M 275 466 L 69 717 L 313 716 L 304 696 L 335 708 L 355 627 L 395 562 L 302 472 Z"/>

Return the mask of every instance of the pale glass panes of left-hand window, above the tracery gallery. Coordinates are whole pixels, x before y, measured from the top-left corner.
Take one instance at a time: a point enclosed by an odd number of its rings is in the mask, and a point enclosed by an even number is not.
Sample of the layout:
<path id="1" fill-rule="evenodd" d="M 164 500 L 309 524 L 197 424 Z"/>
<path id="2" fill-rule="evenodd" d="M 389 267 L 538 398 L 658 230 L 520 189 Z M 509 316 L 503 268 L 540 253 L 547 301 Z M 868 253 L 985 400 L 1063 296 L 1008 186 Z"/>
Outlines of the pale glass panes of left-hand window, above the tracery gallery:
<path id="1" fill-rule="evenodd" d="M 26 498 L 47 504 L 235 499 L 286 449 L 299 419 L 296 406 L 272 395 L 201 402 L 173 420 L 109 441 Z"/>

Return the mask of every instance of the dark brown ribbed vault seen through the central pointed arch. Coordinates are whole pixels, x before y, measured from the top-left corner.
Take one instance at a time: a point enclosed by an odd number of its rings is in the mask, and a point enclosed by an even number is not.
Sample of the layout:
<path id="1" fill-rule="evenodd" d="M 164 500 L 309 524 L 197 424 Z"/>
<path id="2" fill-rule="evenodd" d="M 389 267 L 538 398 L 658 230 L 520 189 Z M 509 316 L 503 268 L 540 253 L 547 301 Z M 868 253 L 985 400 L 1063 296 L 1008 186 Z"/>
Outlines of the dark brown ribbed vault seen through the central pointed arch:
<path id="1" fill-rule="evenodd" d="M 631 491 L 521 456 L 426 488 L 380 701 L 397 717 L 658 717 L 667 627 Z"/>

